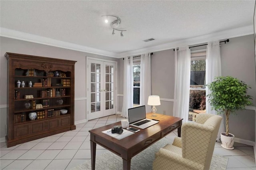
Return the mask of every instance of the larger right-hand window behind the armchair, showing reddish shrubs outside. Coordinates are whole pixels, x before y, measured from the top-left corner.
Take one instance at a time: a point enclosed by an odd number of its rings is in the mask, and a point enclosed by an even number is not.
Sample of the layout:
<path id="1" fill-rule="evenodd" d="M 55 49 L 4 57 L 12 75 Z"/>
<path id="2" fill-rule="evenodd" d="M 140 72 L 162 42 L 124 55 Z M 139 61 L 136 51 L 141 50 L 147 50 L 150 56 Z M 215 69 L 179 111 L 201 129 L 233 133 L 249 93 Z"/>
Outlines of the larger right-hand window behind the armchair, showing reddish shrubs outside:
<path id="1" fill-rule="evenodd" d="M 205 56 L 191 58 L 188 121 L 195 121 L 196 115 L 206 109 L 205 68 Z"/>

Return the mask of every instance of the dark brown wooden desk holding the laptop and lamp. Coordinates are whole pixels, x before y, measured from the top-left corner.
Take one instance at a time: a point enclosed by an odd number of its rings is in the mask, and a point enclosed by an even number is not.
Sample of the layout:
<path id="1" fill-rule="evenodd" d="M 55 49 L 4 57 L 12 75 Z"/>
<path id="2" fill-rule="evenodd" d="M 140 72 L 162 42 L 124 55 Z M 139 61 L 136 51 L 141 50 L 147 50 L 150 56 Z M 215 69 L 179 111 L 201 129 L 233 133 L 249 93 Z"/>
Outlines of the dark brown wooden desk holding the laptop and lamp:
<path id="1" fill-rule="evenodd" d="M 121 122 L 112 123 L 104 127 L 89 130 L 91 141 L 91 162 L 92 170 L 95 170 L 95 158 L 96 158 L 96 144 L 110 150 L 123 159 L 123 169 L 130 170 L 131 159 L 142 150 L 148 148 L 148 146 L 154 144 L 160 140 L 172 130 L 178 128 L 178 136 L 180 136 L 182 118 L 172 117 L 167 115 L 156 114 L 157 117 L 152 117 L 152 113 L 147 113 L 147 119 L 157 119 L 160 122 L 151 127 L 140 129 L 126 138 L 117 140 L 102 133 L 102 131 L 114 127 L 114 125 L 121 125 Z"/>

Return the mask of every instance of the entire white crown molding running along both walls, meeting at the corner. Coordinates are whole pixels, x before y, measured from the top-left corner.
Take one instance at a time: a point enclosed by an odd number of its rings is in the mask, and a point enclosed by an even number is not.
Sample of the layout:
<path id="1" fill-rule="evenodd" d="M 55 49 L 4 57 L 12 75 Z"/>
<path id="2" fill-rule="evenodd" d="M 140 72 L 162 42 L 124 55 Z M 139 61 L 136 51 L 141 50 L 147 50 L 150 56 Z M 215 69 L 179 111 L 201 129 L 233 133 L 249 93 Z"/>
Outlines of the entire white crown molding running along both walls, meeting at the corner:
<path id="1" fill-rule="evenodd" d="M 221 31 L 221 32 L 214 32 L 214 33 L 207 34 L 204 36 L 188 38 L 188 39 L 179 40 L 179 41 L 175 41 L 175 42 L 156 45 L 153 47 L 142 48 L 142 49 L 133 50 L 133 51 L 127 51 L 124 53 L 114 53 L 114 52 L 110 52 L 110 51 L 104 51 L 104 50 L 100 50 L 100 49 L 96 49 L 96 48 L 92 48 L 92 47 L 86 47 L 83 45 L 63 42 L 63 41 L 55 40 L 52 38 L 46 38 L 43 36 L 37 36 L 34 34 L 28 34 L 28 33 L 24 33 L 24 32 L 10 30 L 8 28 L 0 27 L 0 36 L 2 36 L 2 37 L 13 38 L 13 39 L 17 39 L 17 40 L 23 40 L 23 41 L 34 42 L 34 43 L 40 43 L 40 44 L 44 44 L 44 45 L 50 45 L 50 46 L 60 47 L 60 48 L 65 48 L 65 49 L 72 49 L 72 50 L 76 50 L 76 51 L 82 51 L 82 52 L 86 52 L 86 53 L 93 53 L 93 54 L 97 54 L 97 55 L 104 55 L 104 56 L 115 57 L 115 58 L 122 58 L 125 56 L 131 56 L 131 55 L 140 55 L 140 54 L 149 53 L 149 52 L 163 51 L 166 49 L 173 49 L 173 48 L 181 47 L 184 45 L 195 45 L 195 44 L 199 44 L 199 43 L 205 43 L 210 40 L 223 40 L 226 38 L 234 38 L 234 37 L 246 36 L 246 35 L 250 35 L 250 34 L 254 34 L 253 25 L 244 26 L 244 27 L 240 27 L 240 28 L 234 28 L 234 29 L 225 30 L 225 31 Z"/>

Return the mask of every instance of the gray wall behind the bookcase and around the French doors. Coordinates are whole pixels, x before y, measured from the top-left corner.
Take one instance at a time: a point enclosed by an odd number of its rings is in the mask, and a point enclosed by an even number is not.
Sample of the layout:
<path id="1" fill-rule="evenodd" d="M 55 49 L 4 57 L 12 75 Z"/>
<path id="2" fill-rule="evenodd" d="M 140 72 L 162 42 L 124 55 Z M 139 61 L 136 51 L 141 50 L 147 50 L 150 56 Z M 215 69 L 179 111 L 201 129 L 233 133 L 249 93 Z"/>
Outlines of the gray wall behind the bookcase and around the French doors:
<path id="1" fill-rule="evenodd" d="M 6 52 L 77 61 L 75 64 L 75 121 L 82 121 L 86 119 L 86 56 L 108 59 L 112 61 L 118 60 L 112 57 L 5 37 L 0 37 L 0 44 L 0 138 L 6 136 L 7 60 L 4 57 Z"/>

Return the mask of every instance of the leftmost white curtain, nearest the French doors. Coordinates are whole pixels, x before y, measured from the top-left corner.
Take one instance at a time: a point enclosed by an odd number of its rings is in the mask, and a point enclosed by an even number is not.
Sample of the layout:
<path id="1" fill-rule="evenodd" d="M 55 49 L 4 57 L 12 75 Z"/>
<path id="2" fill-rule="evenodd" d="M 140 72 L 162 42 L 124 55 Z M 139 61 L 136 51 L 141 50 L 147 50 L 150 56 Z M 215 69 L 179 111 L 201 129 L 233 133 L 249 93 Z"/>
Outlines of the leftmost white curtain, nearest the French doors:
<path id="1" fill-rule="evenodd" d="M 133 59 L 124 57 L 124 97 L 122 117 L 128 118 L 128 109 L 133 107 Z"/>

